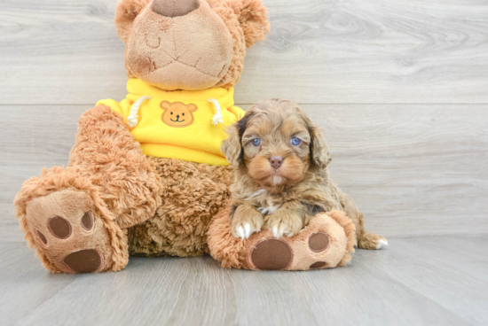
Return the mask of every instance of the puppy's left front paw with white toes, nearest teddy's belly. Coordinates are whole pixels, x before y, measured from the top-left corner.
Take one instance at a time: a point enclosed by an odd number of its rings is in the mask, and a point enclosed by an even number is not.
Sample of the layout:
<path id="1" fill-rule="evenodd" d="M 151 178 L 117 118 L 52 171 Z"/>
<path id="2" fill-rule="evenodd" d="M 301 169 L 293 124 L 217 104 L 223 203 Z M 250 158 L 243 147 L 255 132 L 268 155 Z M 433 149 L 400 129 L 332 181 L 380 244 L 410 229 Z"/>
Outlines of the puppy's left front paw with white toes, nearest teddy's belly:
<path id="1" fill-rule="evenodd" d="M 263 214 L 255 206 L 242 204 L 231 214 L 232 236 L 247 239 L 254 232 L 259 232 L 264 224 Z"/>

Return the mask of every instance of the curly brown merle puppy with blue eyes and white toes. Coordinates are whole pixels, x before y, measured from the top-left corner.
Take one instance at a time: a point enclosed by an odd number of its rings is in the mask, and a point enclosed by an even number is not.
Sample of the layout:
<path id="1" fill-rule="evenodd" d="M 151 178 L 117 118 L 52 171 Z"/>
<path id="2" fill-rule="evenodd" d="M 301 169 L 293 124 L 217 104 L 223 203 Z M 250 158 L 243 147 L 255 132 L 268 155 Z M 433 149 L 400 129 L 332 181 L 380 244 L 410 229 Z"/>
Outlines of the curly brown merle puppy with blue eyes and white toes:
<path id="1" fill-rule="evenodd" d="M 263 227 L 293 237 L 321 212 L 342 210 L 356 225 L 358 247 L 380 249 L 386 238 L 366 232 L 363 214 L 330 180 L 330 154 L 319 128 L 291 101 L 251 106 L 222 145 L 234 167 L 231 225 L 248 238 Z"/>

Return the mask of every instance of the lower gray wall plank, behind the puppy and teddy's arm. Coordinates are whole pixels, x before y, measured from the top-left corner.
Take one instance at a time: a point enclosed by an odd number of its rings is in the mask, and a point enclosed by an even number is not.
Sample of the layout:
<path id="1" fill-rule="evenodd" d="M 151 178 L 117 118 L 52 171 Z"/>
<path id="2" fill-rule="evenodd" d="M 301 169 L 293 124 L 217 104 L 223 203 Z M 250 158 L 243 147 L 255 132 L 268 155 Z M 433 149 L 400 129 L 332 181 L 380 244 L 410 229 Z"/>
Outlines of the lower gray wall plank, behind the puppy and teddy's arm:
<path id="1" fill-rule="evenodd" d="M 242 105 L 247 108 L 248 105 Z M 0 106 L 0 239 L 21 241 L 12 200 L 67 164 L 88 106 Z M 325 128 L 332 176 L 388 237 L 488 233 L 488 105 L 303 105 Z M 26 119 L 28 117 L 28 119 Z"/>

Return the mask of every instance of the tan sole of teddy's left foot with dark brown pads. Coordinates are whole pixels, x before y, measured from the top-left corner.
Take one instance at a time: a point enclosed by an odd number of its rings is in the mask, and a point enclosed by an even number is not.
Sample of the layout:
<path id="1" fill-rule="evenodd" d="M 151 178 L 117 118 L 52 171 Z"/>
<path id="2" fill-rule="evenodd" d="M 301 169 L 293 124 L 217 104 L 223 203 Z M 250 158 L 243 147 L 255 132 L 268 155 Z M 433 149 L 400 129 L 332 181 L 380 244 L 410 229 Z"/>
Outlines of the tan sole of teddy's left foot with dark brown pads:
<path id="1" fill-rule="evenodd" d="M 52 272 L 102 272 L 113 265 L 110 238 L 84 192 L 61 190 L 35 198 L 28 202 L 26 220 Z"/>

